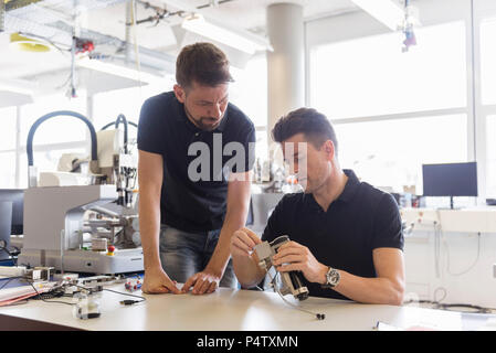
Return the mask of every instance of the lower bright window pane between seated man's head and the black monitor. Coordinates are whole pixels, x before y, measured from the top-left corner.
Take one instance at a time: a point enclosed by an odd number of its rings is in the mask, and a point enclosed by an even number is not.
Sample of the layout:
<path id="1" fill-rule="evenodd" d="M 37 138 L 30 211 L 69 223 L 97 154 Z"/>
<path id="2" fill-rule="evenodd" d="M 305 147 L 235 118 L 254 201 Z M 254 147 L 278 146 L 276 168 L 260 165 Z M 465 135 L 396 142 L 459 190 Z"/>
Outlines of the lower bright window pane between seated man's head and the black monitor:
<path id="1" fill-rule="evenodd" d="M 465 126 L 464 115 L 339 124 L 338 158 L 376 186 L 422 194 L 422 164 L 466 161 Z"/>

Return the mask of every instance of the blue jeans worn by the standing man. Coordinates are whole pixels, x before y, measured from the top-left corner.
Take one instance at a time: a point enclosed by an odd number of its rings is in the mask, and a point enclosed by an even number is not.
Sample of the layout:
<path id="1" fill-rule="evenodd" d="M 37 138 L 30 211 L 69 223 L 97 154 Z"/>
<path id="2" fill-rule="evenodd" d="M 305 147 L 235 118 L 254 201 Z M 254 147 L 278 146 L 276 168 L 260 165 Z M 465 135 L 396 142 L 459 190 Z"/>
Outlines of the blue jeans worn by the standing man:
<path id="1" fill-rule="evenodd" d="M 170 279 L 184 284 L 188 278 L 202 271 L 212 257 L 220 233 L 220 229 L 188 233 L 162 224 L 160 226 L 160 261 Z M 238 288 L 231 259 L 219 286 Z"/>

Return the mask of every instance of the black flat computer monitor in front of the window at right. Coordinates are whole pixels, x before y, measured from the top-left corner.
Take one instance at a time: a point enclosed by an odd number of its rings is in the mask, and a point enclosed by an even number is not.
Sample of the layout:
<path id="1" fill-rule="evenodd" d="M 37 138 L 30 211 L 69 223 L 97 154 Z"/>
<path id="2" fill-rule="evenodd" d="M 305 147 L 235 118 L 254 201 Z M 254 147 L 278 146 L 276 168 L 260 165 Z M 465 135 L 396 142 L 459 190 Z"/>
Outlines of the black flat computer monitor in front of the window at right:
<path id="1" fill-rule="evenodd" d="M 453 196 L 478 196 L 477 163 L 423 164 L 423 195 L 450 196 L 453 208 Z"/>

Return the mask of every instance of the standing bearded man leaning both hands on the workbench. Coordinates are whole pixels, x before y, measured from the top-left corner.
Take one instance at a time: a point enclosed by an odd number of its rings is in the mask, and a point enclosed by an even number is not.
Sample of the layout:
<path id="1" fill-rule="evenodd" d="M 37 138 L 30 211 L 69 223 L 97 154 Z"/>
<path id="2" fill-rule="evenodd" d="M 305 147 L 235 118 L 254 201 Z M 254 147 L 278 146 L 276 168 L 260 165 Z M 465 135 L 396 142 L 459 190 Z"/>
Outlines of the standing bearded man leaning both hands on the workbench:
<path id="1" fill-rule="evenodd" d="M 218 47 L 188 45 L 176 68 L 173 92 L 147 99 L 139 118 L 143 290 L 201 295 L 236 286 L 229 244 L 246 222 L 255 130 L 229 103 Z"/>

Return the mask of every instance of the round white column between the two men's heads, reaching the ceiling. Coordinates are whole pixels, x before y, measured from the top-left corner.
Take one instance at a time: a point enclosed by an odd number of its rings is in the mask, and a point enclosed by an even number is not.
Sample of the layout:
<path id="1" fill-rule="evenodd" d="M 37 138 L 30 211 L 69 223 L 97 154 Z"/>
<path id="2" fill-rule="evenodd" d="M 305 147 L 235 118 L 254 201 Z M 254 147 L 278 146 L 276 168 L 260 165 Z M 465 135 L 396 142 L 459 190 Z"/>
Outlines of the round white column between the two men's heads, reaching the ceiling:
<path id="1" fill-rule="evenodd" d="M 305 40 L 303 7 L 274 3 L 267 7 L 268 145 L 279 117 L 305 105 Z"/>

